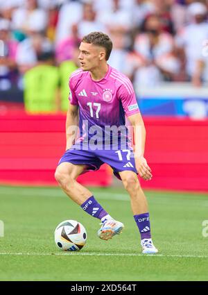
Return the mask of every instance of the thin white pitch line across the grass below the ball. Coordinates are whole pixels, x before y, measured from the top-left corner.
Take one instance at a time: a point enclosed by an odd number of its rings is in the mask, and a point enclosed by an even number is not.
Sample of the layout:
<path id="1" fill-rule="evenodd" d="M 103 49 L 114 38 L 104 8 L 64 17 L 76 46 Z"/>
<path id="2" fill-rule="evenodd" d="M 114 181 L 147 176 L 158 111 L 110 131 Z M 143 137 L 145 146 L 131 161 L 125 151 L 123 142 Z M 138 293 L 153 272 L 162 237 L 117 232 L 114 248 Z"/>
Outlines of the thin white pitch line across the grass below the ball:
<path id="1" fill-rule="evenodd" d="M 86 256 L 151 256 L 151 257 L 174 257 L 174 258 L 208 258 L 205 255 L 163 255 L 163 254 L 140 254 L 140 253 L 95 253 L 95 252 L 84 252 L 84 253 L 0 253 L 0 255 L 25 255 L 25 256 L 65 256 L 65 255 L 86 255 Z"/>

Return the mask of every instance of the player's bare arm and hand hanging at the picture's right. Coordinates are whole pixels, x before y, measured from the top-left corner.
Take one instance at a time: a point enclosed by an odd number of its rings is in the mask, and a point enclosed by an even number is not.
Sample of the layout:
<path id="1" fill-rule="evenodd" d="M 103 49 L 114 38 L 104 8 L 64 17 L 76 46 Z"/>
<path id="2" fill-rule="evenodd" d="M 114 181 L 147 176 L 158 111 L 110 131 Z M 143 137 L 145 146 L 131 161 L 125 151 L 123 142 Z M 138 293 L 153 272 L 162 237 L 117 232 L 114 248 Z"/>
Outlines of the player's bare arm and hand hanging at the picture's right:
<path id="1" fill-rule="evenodd" d="M 135 139 L 135 165 L 137 172 L 141 178 L 145 180 L 151 180 L 153 177 L 151 169 L 144 158 L 145 142 L 146 142 L 146 128 L 144 121 L 141 117 L 141 113 L 137 112 L 134 115 L 128 116 L 130 124 L 134 128 L 134 139 Z"/>

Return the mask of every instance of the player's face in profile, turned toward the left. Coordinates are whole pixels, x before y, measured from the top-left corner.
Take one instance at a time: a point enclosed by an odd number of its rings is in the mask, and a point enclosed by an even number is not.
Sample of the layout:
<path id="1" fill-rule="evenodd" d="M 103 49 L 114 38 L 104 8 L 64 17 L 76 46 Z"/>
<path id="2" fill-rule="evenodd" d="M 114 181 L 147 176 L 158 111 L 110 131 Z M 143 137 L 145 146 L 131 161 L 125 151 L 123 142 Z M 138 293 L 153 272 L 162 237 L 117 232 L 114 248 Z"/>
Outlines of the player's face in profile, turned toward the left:
<path id="1" fill-rule="evenodd" d="M 80 61 L 80 67 L 83 71 L 92 71 L 99 67 L 101 60 L 105 59 L 105 49 L 98 47 L 94 44 L 81 42 L 80 55 L 78 59 Z"/>

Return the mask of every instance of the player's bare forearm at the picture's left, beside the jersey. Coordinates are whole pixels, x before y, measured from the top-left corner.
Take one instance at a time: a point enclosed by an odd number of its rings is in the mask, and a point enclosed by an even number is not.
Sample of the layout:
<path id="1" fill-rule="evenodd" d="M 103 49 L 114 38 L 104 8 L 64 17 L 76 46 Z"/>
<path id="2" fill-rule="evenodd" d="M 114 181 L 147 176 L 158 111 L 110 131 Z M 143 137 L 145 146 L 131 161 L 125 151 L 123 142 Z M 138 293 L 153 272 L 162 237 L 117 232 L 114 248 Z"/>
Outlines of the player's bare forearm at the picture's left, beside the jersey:
<path id="1" fill-rule="evenodd" d="M 78 133 L 78 106 L 72 105 L 69 102 L 69 108 L 67 111 L 66 120 L 66 139 L 67 146 L 66 150 L 70 149 L 76 140 L 76 135 Z"/>

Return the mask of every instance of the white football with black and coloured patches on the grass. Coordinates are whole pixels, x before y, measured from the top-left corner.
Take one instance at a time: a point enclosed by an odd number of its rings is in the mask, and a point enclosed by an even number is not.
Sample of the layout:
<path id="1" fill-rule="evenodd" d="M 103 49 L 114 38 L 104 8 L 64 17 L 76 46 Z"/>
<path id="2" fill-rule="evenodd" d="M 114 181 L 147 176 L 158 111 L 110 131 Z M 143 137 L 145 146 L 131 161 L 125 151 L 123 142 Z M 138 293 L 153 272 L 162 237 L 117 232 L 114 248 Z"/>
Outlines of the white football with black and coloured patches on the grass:
<path id="1" fill-rule="evenodd" d="M 83 224 L 76 220 L 62 221 L 55 228 L 55 244 L 62 251 L 80 251 L 87 241 Z"/>

